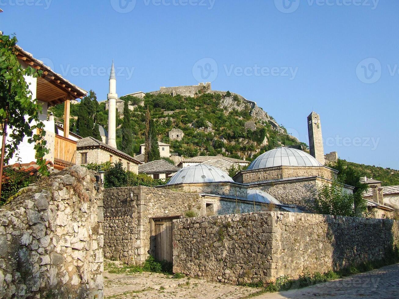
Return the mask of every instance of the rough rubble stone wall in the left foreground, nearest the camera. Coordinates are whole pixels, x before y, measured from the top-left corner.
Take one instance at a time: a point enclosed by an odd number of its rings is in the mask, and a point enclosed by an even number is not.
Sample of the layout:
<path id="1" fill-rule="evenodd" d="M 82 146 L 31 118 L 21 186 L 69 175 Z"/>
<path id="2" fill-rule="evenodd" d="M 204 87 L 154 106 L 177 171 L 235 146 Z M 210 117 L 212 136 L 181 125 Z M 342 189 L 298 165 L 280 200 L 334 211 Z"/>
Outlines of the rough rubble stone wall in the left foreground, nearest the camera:
<path id="1" fill-rule="evenodd" d="M 73 166 L 0 209 L 1 298 L 103 298 L 102 193 L 94 183 Z"/>

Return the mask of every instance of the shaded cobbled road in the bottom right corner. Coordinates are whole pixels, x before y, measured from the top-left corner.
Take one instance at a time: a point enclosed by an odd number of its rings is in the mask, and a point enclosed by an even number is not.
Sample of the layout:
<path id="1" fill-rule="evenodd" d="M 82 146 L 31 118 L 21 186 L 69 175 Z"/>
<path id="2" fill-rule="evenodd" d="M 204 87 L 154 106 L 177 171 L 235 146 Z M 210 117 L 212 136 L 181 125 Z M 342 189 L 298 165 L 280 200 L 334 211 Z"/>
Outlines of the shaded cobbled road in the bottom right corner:
<path id="1" fill-rule="evenodd" d="M 257 299 L 283 298 L 399 298 L 399 264 L 351 275 L 311 287 L 266 293 Z"/>

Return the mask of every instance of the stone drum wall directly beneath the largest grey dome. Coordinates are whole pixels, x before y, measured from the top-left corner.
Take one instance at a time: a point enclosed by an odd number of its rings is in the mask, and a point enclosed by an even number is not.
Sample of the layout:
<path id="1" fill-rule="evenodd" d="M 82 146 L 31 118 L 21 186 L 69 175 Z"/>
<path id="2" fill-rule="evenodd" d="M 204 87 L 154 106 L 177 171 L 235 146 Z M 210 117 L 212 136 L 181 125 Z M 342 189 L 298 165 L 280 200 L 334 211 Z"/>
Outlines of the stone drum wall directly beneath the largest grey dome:
<path id="1" fill-rule="evenodd" d="M 264 169 L 244 170 L 234 177 L 238 183 L 254 183 L 270 181 L 276 179 L 286 179 L 292 177 L 323 177 L 324 179 L 334 180 L 337 178 L 338 171 L 328 167 L 312 166 L 277 166 Z"/>

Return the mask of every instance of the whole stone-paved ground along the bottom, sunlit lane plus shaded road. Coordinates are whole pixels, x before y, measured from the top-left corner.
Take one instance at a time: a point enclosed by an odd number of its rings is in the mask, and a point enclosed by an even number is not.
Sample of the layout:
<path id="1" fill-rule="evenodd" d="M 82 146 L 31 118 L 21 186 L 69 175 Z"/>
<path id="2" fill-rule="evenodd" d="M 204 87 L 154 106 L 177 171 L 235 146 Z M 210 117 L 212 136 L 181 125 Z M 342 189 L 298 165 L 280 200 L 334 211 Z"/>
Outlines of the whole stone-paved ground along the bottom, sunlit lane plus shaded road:
<path id="1" fill-rule="evenodd" d="M 104 271 L 105 298 L 243 299 L 259 289 L 212 283 L 187 277 L 173 279 L 158 273 L 109 273 Z M 399 298 L 399 264 L 352 275 L 303 289 L 265 293 L 257 299 L 286 298 Z"/>

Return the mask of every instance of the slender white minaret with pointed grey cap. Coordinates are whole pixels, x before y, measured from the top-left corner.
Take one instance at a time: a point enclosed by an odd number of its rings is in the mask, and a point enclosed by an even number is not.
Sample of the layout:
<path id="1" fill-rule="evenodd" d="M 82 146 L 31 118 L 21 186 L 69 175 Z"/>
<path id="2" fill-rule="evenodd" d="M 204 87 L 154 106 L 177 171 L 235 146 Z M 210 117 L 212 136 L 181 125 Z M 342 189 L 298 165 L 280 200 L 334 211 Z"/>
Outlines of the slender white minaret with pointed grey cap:
<path id="1" fill-rule="evenodd" d="M 117 127 L 117 78 L 115 77 L 114 61 L 112 61 L 111 75 L 109 76 L 109 109 L 108 109 L 108 145 L 117 148 L 116 127 Z"/>

